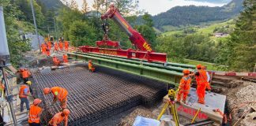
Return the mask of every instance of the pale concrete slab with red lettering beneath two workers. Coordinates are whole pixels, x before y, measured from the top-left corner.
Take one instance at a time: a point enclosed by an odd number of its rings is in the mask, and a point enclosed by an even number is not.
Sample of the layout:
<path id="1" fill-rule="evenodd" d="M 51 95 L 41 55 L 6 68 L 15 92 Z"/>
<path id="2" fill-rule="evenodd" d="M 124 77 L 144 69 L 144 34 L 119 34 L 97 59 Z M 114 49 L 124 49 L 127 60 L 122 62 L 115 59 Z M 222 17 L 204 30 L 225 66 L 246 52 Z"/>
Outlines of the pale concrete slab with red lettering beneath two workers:
<path id="1" fill-rule="evenodd" d="M 168 95 L 164 97 L 164 102 L 168 99 Z M 196 121 L 200 120 L 213 120 L 216 124 L 222 124 L 222 116 L 220 113 L 213 112 L 213 109 L 220 109 L 222 113 L 224 113 L 226 96 L 219 95 L 216 93 L 205 92 L 205 105 L 198 103 L 198 96 L 196 94 L 196 89 L 191 88 L 190 94 L 186 99 L 186 104 L 183 102 L 180 104 L 175 103 L 178 114 L 183 115 L 185 117 L 193 119 L 195 113 L 197 113 L 198 109 L 201 108 L 201 112 L 198 113 L 198 117 Z"/>

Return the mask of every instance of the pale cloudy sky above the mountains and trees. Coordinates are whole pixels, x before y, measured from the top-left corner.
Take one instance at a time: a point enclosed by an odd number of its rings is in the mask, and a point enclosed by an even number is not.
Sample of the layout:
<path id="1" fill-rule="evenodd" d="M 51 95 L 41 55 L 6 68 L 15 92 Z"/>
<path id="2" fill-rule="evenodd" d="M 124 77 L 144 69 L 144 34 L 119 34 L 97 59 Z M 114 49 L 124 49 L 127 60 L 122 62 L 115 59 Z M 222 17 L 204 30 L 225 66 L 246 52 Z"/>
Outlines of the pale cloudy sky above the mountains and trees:
<path id="1" fill-rule="evenodd" d="M 82 6 L 82 0 L 76 0 L 79 8 Z M 175 6 L 224 6 L 231 0 L 139 0 L 139 9 L 144 9 L 152 15 L 163 13 Z M 87 0 L 92 6 L 93 0 Z"/>

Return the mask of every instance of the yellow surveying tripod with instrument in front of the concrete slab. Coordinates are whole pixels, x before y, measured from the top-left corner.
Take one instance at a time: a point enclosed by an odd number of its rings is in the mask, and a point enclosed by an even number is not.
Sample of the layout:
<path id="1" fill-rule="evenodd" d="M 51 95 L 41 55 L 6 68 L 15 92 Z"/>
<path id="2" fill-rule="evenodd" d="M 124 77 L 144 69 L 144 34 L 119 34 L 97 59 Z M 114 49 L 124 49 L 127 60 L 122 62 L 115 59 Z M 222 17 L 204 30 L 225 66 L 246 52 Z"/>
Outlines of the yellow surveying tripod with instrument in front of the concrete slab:
<path id="1" fill-rule="evenodd" d="M 172 118 L 175 120 L 175 126 L 179 126 L 179 118 L 175 106 L 175 90 L 170 89 L 168 91 L 168 102 L 165 103 L 164 108 L 161 110 L 161 113 L 157 117 L 157 120 L 160 120 L 160 118 L 163 116 L 164 112 L 168 108 L 170 110 L 170 113 L 172 114 Z"/>

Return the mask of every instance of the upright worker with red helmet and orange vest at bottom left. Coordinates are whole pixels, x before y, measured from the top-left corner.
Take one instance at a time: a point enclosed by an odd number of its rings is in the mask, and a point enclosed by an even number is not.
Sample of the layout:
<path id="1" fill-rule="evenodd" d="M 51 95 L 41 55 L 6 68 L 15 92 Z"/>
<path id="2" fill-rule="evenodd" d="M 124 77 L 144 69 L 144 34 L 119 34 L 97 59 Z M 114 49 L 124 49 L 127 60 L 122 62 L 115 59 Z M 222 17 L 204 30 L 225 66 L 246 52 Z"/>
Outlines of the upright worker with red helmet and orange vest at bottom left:
<path id="1" fill-rule="evenodd" d="M 30 106 L 28 113 L 28 124 L 29 126 L 40 126 L 40 115 L 43 109 L 39 106 L 42 102 L 40 98 L 36 98 L 33 104 Z"/>

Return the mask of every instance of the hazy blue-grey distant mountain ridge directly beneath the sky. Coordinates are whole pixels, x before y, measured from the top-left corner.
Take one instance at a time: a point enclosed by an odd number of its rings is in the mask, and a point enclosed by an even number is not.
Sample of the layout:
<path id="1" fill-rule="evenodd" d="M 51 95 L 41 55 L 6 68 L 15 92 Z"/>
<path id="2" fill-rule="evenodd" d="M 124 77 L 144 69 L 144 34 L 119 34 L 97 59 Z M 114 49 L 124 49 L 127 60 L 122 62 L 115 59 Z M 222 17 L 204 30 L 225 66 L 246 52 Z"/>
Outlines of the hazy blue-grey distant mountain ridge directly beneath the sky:
<path id="1" fill-rule="evenodd" d="M 243 0 L 232 0 L 221 7 L 175 6 L 165 13 L 152 17 L 155 27 L 162 30 L 165 25 L 180 26 L 200 24 L 201 22 L 226 20 L 239 14 Z"/>

